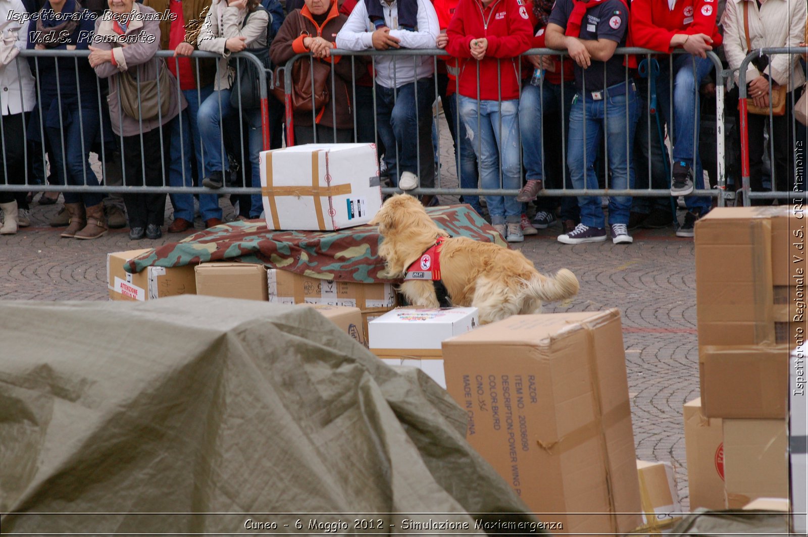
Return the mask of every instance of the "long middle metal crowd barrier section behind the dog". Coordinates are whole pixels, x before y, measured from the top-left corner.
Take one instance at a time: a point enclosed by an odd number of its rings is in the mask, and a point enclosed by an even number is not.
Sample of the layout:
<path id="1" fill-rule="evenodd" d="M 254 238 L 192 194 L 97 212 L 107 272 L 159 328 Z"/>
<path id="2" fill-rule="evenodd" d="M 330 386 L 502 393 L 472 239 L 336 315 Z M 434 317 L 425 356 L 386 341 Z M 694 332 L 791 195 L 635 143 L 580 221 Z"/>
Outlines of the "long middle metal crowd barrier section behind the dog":
<path id="1" fill-rule="evenodd" d="M 682 53 L 682 52 L 684 52 L 684 51 L 676 51 L 675 53 Z M 436 94 L 435 99 L 436 99 L 436 102 L 437 102 L 437 99 L 438 99 L 438 84 L 437 84 L 438 60 L 440 59 L 440 57 L 447 57 L 446 52 L 444 50 L 442 50 L 442 49 L 438 49 L 438 48 L 436 48 L 436 49 L 415 49 L 415 50 L 414 49 L 406 49 L 406 50 L 404 50 L 404 49 L 395 49 L 395 50 L 391 49 L 391 50 L 386 50 L 386 51 L 370 50 L 370 51 L 356 52 L 356 51 L 349 51 L 349 50 L 343 50 L 343 49 L 335 48 L 335 49 L 332 49 L 330 51 L 330 53 L 331 53 L 332 56 L 350 57 L 350 59 L 351 59 L 351 68 L 354 68 L 357 57 L 368 57 L 369 60 L 370 60 L 370 64 L 371 64 L 373 72 L 375 72 L 375 67 L 376 67 L 375 63 L 376 63 L 377 57 L 385 57 L 385 56 L 393 57 L 394 58 L 393 62 L 395 62 L 395 58 L 402 57 L 402 61 L 412 61 L 414 66 L 416 65 L 416 62 L 418 61 L 419 57 L 424 57 L 424 56 L 433 57 L 433 75 L 432 75 L 432 77 L 433 77 L 433 80 L 436 82 L 435 83 L 435 94 Z M 651 50 L 646 49 L 646 48 L 617 48 L 617 50 L 615 52 L 615 55 L 624 55 L 624 57 L 625 57 L 625 55 L 629 55 L 629 54 L 631 54 L 631 55 L 639 55 L 640 57 L 644 57 L 644 58 L 646 58 L 648 60 L 650 60 L 652 57 L 659 56 L 658 52 L 654 52 L 654 51 L 651 51 Z M 565 57 L 566 52 L 552 50 L 552 49 L 549 49 L 549 48 L 532 48 L 532 49 L 528 50 L 528 52 L 524 52 L 523 56 L 558 56 L 558 57 Z M 715 198 L 718 198 L 718 203 L 723 205 L 725 203 L 725 198 L 730 198 L 731 199 L 733 197 L 733 195 L 734 195 L 734 192 L 730 193 L 729 191 L 726 191 L 726 166 L 725 166 L 725 162 L 724 162 L 724 159 L 725 159 L 725 133 L 724 133 L 724 128 L 723 128 L 724 127 L 724 98 L 725 98 L 725 94 L 724 94 L 724 76 L 726 75 L 726 73 L 725 73 L 724 69 L 722 68 L 721 60 L 718 58 L 718 56 L 714 52 L 708 52 L 708 57 L 709 57 L 709 60 L 713 62 L 713 67 L 715 68 L 715 86 L 716 86 L 715 102 L 716 102 L 716 111 L 717 111 L 717 113 L 716 113 L 717 121 L 716 121 L 715 131 L 716 131 L 716 147 L 717 147 L 716 160 L 718 162 L 716 188 L 705 188 L 705 189 L 701 189 L 701 190 L 696 190 L 696 191 L 694 191 L 692 193 L 692 195 L 704 195 L 704 196 L 715 197 Z M 285 134 L 286 134 L 286 140 L 287 141 L 293 141 L 294 140 L 293 111 L 291 109 L 291 99 L 290 99 L 290 96 L 291 96 L 291 93 L 292 93 L 292 77 L 290 75 L 292 73 L 292 66 L 295 64 L 295 62 L 296 61 L 305 61 L 305 59 L 308 59 L 309 61 L 314 61 L 314 59 L 309 54 L 304 53 L 304 54 L 298 54 L 297 56 L 292 57 L 284 65 L 285 75 L 286 75 L 286 76 L 284 76 L 284 82 L 285 82 L 284 90 L 285 90 L 285 93 L 286 93 L 286 99 L 285 99 L 286 128 L 285 128 Z M 521 62 L 519 62 L 518 65 L 519 65 L 519 68 L 518 68 L 519 72 L 517 73 L 517 77 L 519 78 L 520 81 L 522 81 L 523 77 L 522 77 L 522 65 L 521 65 Z M 672 69 L 672 64 L 669 64 L 669 65 L 671 66 L 670 69 Z M 501 69 L 501 68 L 502 68 L 502 60 L 499 60 L 499 69 Z M 335 85 L 334 85 L 335 71 L 334 71 L 334 64 L 333 63 L 330 64 L 330 69 L 331 69 L 331 78 L 330 78 L 331 79 L 331 87 L 330 87 L 330 90 L 333 92 L 335 90 Z M 562 64 L 562 74 L 563 74 L 563 69 L 564 69 L 564 66 Z M 352 70 L 356 70 L 356 69 L 352 69 Z M 313 69 L 312 69 L 312 71 L 313 71 Z M 395 73 L 395 69 L 393 69 L 393 73 Z M 585 76 L 586 75 L 584 74 L 584 77 Z M 629 79 L 631 79 L 631 78 L 632 77 L 629 76 L 629 68 L 626 67 L 625 68 L 625 82 L 628 83 Z M 670 77 L 670 79 L 671 79 L 671 85 L 672 85 L 672 83 L 673 83 L 672 82 L 672 77 Z M 480 80 L 479 80 L 479 73 L 478 73 L 478 91 L 479 91 L 479 82 L 480 82 Z M 499 90 L 500 90 L 500 92 L 501 92 L 501 82 L 502 82 L 502 79 L 500 77 L 499 78 L 499 84 L 500 84 Z M 393 83 L 395 85 L 395 80 L 394 79 L 393 79 Z M 459 81 L 457 80 L 457 78 L 455 79 L 454 83 L 456 85 L 455 86 L 456 93 L 459 93 L 459 91 L 458 91 L 459 90 Z M 312 90 L 313 90 L 312 93 L 314 94 L 314 75 L 312 76 L 311 84 L 312 84 Z M 543 88 L 543 86 L 540 86 L 540 90 L 541 90 L 541 88 Z M 697 91 L 697 90 L 699 90 L 699 88 L 694 88 L 694 90 Z M 562 95 L 563 95 L 563 91 L 564 91 L 564 89 L 562 87 Z M 648 93 L 649 93 L 649 95 L 646 96 L 646 103 L 648 101 L 650 101 L 650 86 L 648 86 Z M 670 90 L 671 96 L 672 96 L 672 93 L 673 93 L 673 91 L 671 89 Z M 418 94 L 417 85 L 415 86 L 415 94 L 416 94 L 416 102 L 417 102 L 417 94 Z M 521 87 L 520 87 L 520 96 L 521 96 Z M 353 103 L 356 103 L 356 79 L 355 78 L 351 80 L 351 99 L 352 99 Z M 563 101 L 564 101 L 564 99 L 562 98 L 562 111 L 561 111 L 562 116 L 565 115 L 564 114 L 564 103 L 563 103 Z M 673 113 L 672 113 L 673 99 L 671 98 L 670 101 L 671 101 L 671 111 L 669 112 L 668 117 L 672 118 L 673 117 Z M 377 95 L 376 95 L 376 86 L 375 86 L 375 84 L 372 86 L 372 103 L 373 103 L 373 117 L 374 117 L 374 127 L 375 127 L 376 126 L 376 123 L 375 123 L 375 120 L 376 120 L 376 104 L 377 104 Z M 314 97 L 313 97 L 313 104 L 314 104 Z M 479 107 L 479 101 L 478 101 L 478 107 Z M 314 106 L 313 106 L 313 108 L 314 108 Z M 500 110 L 501 110 L 501 99 L 500 99 Z M 626 112 L 628 114 L 628 111 L 626 111 Z M 694 114 L 699 114 L 699 111 L 695 110 L 695 111 L 693 111 L 693 113 Z M 432 115 L 433 115 L 433 121 L 435 122 L 437 131 L 438 131 L 438 136 L 437 136 L 438 143 L 437 143 L 437 148 L 436 149 L 437 149 L 438 155 L 440 155 L 440 117 L 439 117 L 438 109 L 437 109 L 436 106 L 433 107 Z M 465 132 L 465 128 L 461 128 L 461 122 L 459 120 L 459 112 L 457 113 L 457 116 L 458 117 L 456 118 L 457 124 L 455 126 L 455 132 Z M 314 128 L 314 123 L 315 123 L 314 122 L 314 110 L 312 111 L 312 117 L 313 117 L 312 123 L 313 123 L 313 128 Z M 418 113 L 417 113 L 417 110 L 416 110 L 416 121 L 417 121 L 417 118 L 418 118 Z M 334 120 L 335 120 L 335 117 L 334 117 Z M 448 118 L 447 118 L 447 121 L 448 121 Z M 544 128 L 544 117 L 543 116 L 541 118 L 541 121 L 542 121 L 541 128 Z M 649 116 L 648 121 L 650 122 L 650 116 Z M 698 122 L 696 122 L 696 125 L 697 124 L 698 124 Z M 360 141 L 358 139 L 358 132 L 357 132 L 356 126 L 357 126 L 357 122 L 356 122 L 356 114 L 355 114 L 354 115 L 354 141 Z M 501 128 L 501 124 L 500 124 L 500 128 Z M 565 126 L 562 125 L 562 132 L 563 132 L 564 128 L 565 128 Z M 336 131 L 336 128 L 334 130 Z M 374 129 L 374 130 L 377 131 L 377 129 Z M 696 151 L 697 151 L 698 140 L 696 139 L 696 129 L 694 129 L 693 136 L 694 136 L 693 146 L 694 146 L 694 148 L 696 148 Z M 316 139 L 316 132 L 314 132 L 314 137 Z M 562 138 L 563 138 L 562 145 L 566 145 L 566 132 L 564 132 L 562 134 Z M 544 136 L 542 136 L 542 139 L 544 139 Z M 378 147 L 379 146 L 379 140 L 378 140 L 378 133 L 377 132 L 376 132 L 376 137 L 375 137 L 374 141 L 376 142 L 377 147 Z M 608 145 L 609 141 L 607 140 L 605 143 Z M 639 143 L 639 141 L 635 140 L 635 141 L 633 141 L 633 144 L 630 144 L 629 141 L 626 140 L 626 143 L 627 143 L 627 145 L 631 146 L 631 147 L 629 147 L 629 162 L 630 162 L 630 159 L 632 158 L 632 157 L 630 157 L 630 155 L 633 153 L 633 145 Z M 458 145 L 458 147 L 459 147 L 459 145 Z M 521 136 L 520 136 L 520 148 L 521 147 L 522 147 L 522 144 L 521 144 Z M 543 150 L 544 150 L 544 148 L 542 148 L 542 151 Z M 672 160 L 671 157 L 670 157 L 670 152 L 671 152 L 671 149 L 668 147 L 667 148 L 667 153 L 669 153 L 669 157 L 668 157 L 669 161 Z M 603 153 L 606 153 L 606 151 L 602 152 L 602 154 Z M 380 155 L 380 157 L 381 157 L 381 155 Z M 422 158 L 422 156 L 421 156 L 421 154 L 419 152 L 418 153 L 418 168 L 419 168 L 419 170 L 423 170 L 423 168 L 421 166 L 421 158 Z M 566 150 L 564 151 L 563 158 L 565 159 L 565 162 L 566 162 Z M 606 157 L 606 159 L 607 160 L 605 162 L 604 169 L 608 170 L 608 157 Z M 396 155 L 396 161 L 398 162 L 398 153 Z M 461 155 L 456 154 L 455 155 L 455 162 L 456 162 L 456 169 L 457 169 L 457 182 L 458 182 L 458 184 L 460 183 L 460 173 L 461 173 L 460 172 L 460 167 L 461 166 L 459 164 L 460 161 L 461 161 Z M 501 162 L 501 159 L 500 159 L 500 162 Z M 521 164 L 521 162 L 523 162 L 522 159 L 520 159 L 520 164 Z M 542 158 L 542 162 L 543 163 L 545 162 L 544 158 Z M 649 159 L 648 159 L 648 162 L 646 164 L 648 166 L 648 170 L 649 170 L 648 173 L 649 173 L 649 177 L 650 177 L 650 174 L 651 174 L 651 172 L 650 172 L 650 167 L 651 167 L 650 152 L 649 152 Z M 524 170 L 522 170 L 522 171 L 524 171 Z M 479 174 L 479 170 L 478 170 L 478 174 Z M 522 175 L 524 177 L 524 173 Z M 546 177 L 546 175 L 544 173 L 542 175 L 544 177 Z M 541 196 L 630 195 L 630 196 L 642 196 L 642 197 L 670 196 L 671 195 L 669 188 L 666 188 L 666 189 L 653 189 L 653 188 L 650 188 L 651 181 L 649 181 L 649 187 L 648 188 L 642 188 L 642 189 L 629 188 L 629 189 L 622 189 L 622 190 L 612 189 L 612 188 L 609 188 L 608 174 L 604 174 L 604 175 L 606 175 L 606 177 L 604 178 L 604 188 L 600 188 L 600 189 L 587 189 L 587 188 L 584 188 L 583 190 L 574 190 L 572 188 L 567 188 L 566 187 L 566 166 L 562 166 L 562 188 L 545 188 L 543 191 L 540 192 L 539 195 L 541 195 Z M 501 169 L 501 167 L 500 167 L 500 170 L 499 170 L 499 179 L 500 179 L 499 189 L 444 187 L 442 185 L 441 166 L 440 166 L 440 161 L 439 161 L 439 162 L 436 162 L 436 177 L 435 177 L 436 187 L 433 187 L 433 188 L 420 187 L 420 188 L 415 189 L 414 191 L 411 191 L 411 193 L 413 193 L 415 195 L 516 195 L 518 193 L 518 190 L 512 190 L 512 189 L 509 190 L 509 189 L 503 188 L 503 180 L 502 180 L 503 178 L 502 178 L 502 169 Z M 670 178 L 667 178 L 667 181 L 669 182 Z M 393 192 L 396 192 L 398 190 L 396 188 L 393 188 L 393 187 L 387 187 L 387 188 L 383 188 L 382 191 L 385 192 L 385 193 L 393 193 Z M 722 193 L 725 193 L 726 195 L 722 195 Z"/>

